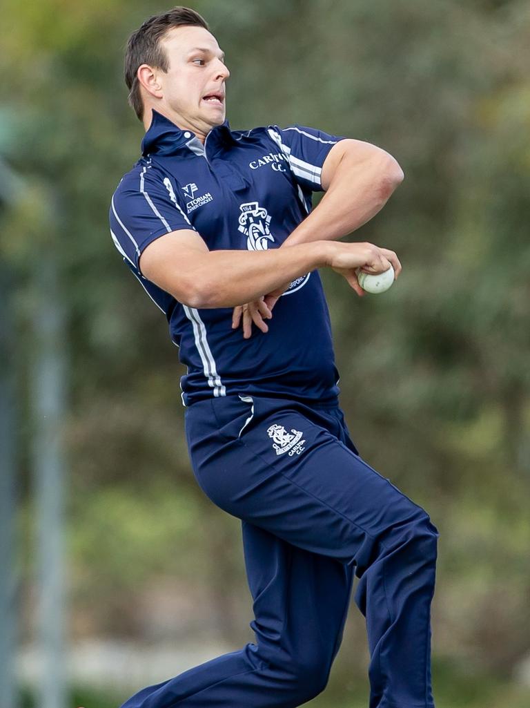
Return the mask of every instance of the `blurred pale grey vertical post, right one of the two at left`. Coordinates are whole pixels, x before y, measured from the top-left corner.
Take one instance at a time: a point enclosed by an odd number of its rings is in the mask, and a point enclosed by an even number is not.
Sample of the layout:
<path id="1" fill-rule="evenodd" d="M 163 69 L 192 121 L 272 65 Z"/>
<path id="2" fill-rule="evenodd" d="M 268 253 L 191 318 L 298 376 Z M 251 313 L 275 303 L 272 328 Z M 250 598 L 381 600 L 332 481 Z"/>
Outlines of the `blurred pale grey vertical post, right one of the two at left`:
<path id="1" fill-rule="evenodd" d="M 38 535 L 38 612 L 42 675 L 41 708 L 66 708 L 64 651 L 64 314 L 57 256 L 42 249 L 35 263 L 34 469 Z"/>

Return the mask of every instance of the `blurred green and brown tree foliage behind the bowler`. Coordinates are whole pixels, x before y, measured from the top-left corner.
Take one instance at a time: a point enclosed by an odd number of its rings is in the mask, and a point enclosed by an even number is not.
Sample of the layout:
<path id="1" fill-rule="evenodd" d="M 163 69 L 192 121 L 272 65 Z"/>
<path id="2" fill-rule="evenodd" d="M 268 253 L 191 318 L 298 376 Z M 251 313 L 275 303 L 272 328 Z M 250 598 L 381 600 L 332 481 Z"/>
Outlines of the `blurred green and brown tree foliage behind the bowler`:
<path id="1" fill-rule="evenodd" d="M 373 142 L 403 166 L 403 185 L 351 237 L 396 250 L 398 284 L 361 301 L 324 273 L 342 407 L 362 455 L 440 531 L 437 705 L 522 707 L 530 698 L 528 3 L 190 6 L 226 51 L 232 128 L 298 122 Z M 108 229 L 110 196 L 143 134 L 122 81 L 125 42 L 168 7 L 1 1 L 0 156 L 24 181 L 0 215 L 16 351 L 21 651 L 35 636 L 30 370 L 45 255 L 57 268 L 69 362 L 71 651 L 163 646 L 191 666 L 198 644 L 235 649 L 250 638 L 238 522 L 195 484 L 176 350 Z M 367 661 L 352 605 L 330 685 L 314 703 L 366 705 Z M 97 676 L 78 685 L 73 673 L 73 689 L 93 706 L 118 704 L 137 688 L 120 675 L 109 688 Z"/>

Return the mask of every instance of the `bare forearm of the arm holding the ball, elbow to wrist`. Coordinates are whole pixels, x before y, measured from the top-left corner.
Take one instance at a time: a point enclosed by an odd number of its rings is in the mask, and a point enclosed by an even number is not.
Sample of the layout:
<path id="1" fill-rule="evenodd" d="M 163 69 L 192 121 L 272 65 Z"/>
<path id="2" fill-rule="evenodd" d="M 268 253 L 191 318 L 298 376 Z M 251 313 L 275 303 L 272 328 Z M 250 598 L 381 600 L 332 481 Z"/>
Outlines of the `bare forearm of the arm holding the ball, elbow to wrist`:
<path id="1" fill-rule="evenodd" d="M 188 270 L 188 287 L 180 302 L 191 307 L 235 307 L 252 302 L 284 282 L 326 265 L 322 241 L 292 249 L 269 251 L 209 251 Z"/>

